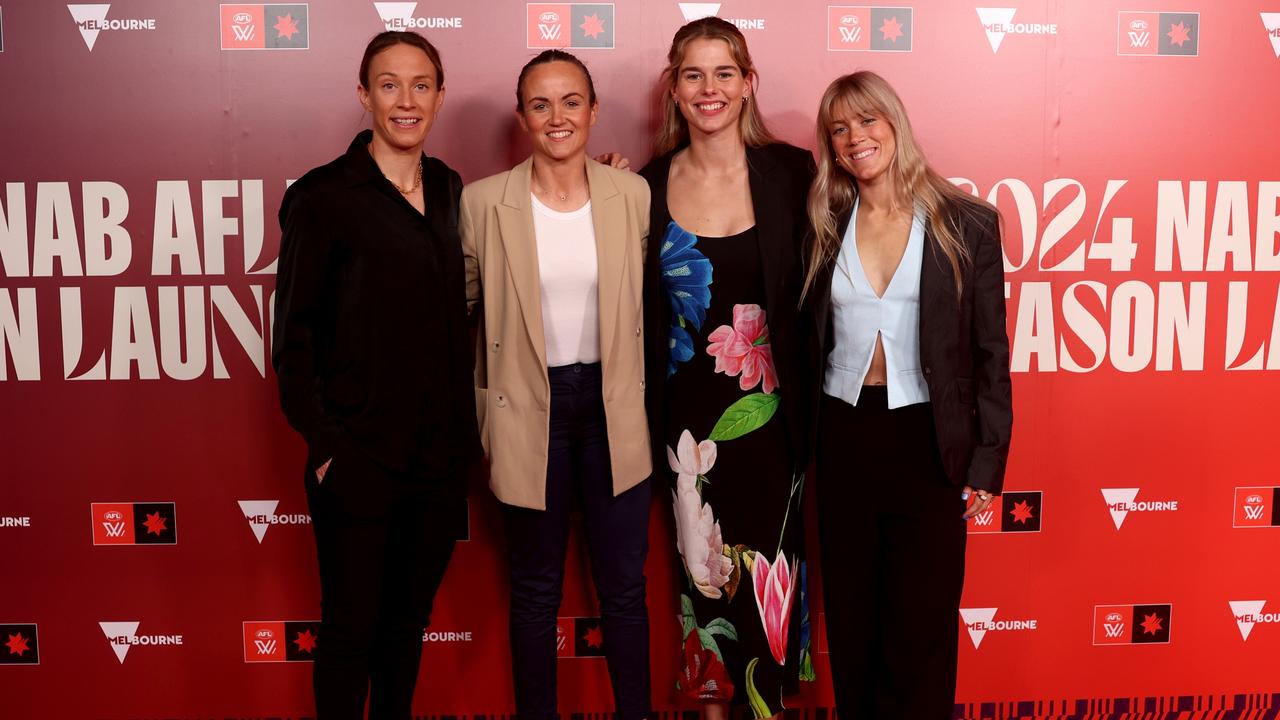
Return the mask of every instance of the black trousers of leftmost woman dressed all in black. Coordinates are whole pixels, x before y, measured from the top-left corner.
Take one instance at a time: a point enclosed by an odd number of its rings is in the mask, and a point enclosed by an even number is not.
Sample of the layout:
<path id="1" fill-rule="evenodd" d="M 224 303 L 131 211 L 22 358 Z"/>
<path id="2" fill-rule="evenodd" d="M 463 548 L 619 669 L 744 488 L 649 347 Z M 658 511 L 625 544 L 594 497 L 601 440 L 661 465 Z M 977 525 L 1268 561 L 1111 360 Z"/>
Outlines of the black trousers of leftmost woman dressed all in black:
<path id="1" fill-rule="evenodd" d="M 306 486 L 320 561 L 316 719 L 360 720 L 367 698 L 370 720 L 408 720 L 465 500 L 358 452 L 334 457 L 323 483 L 308 470 Z"/>

